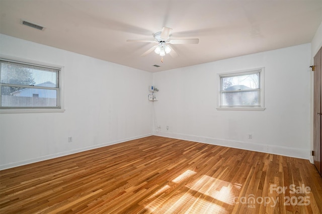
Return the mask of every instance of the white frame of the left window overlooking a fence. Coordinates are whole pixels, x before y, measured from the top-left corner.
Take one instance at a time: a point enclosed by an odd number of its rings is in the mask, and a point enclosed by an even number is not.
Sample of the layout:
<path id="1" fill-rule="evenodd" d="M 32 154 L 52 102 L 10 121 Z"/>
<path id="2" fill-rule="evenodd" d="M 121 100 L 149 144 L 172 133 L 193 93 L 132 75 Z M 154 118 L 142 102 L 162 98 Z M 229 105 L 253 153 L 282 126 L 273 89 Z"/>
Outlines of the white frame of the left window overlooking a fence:
<path id="1" fill-rule="evenodd" d="M 55 65 L 55 64 L 50 64 L 50 63 L 45 63 L 45 62 L 39 62 L 35 60 L 29 60 L 29 59 L 23 59 L 23 58 L 18 58 L 18 57 L 12 57 L 12 56 L 6 56 L 0 54 L 0 58 L 3 60 L 9 60 L 9 61 L 16 61 L 18 63 L 26 63 L 26 64 L 34 64 L 38 66 L 43 66 L 43 67 L 53 67 L 53 68 L 58 68 L 59 71 L 59 94 L 57 96 L 59 107 L 34 107 L 34 108 L 4 108 L 0 109 L 0 114 L 23 114 L 23 113 L 62 113 L 65 111 L 64 109 L 64 66 L 61 65 Z"/>

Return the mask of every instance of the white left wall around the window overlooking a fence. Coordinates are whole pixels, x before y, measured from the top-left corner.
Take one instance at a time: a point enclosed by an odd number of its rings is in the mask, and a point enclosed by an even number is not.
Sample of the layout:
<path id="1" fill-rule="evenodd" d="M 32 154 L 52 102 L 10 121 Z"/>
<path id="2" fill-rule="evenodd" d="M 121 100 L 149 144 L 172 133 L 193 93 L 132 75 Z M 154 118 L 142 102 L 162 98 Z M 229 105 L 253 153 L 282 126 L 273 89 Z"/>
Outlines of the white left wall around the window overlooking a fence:
<path id="1" fill-rule="evenodd" d="M 0 169 L 152 134 L 151 73 L 1 34 L 0 47 L 64 66 L 65 101 L 64 113 L 0 115 Z"/>

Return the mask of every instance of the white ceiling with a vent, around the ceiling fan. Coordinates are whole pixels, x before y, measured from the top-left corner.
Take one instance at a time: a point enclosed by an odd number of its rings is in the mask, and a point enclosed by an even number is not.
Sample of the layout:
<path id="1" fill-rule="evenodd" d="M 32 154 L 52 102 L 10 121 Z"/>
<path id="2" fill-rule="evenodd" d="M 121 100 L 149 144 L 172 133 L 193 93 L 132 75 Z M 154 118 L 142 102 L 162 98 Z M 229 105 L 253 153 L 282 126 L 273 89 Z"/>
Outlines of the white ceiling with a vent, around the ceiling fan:
<path id="1" fill-rule="evenodd" d="M 156 72 L 308 43 L 321 23 L 322 1 L 0 0 L 0 33 Z M 20 24 L 25 19 L 46 27 Z M 179 54 L 142 53 L 162 27 Z M 152 65 L 157 64 L 156 68 Z"/>

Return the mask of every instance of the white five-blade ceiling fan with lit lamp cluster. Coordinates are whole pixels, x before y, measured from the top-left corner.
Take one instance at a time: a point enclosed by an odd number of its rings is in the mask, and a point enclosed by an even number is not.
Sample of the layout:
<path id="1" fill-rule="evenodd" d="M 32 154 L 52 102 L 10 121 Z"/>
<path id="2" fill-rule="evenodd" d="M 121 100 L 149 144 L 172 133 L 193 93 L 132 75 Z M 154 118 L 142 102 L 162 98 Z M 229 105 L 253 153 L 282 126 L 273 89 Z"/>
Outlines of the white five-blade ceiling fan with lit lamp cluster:
<path id="1" fill-rule="evenodd" d="M 177 57 L 177 52 L 169 44 L 198 44 L 199 39 L 170 39 L 172 33 L 172 28 L 163 27 L 162 31 L 153 34 L 154 40 L 133 40 L 129 39 L 127 42 L 148 42 L 148 43 L 158 43 L 157 45 L 151 47 L 145 51 L 141 56 L 146 56 L 154 50 L 156 54 L 160 56 L 165 56 L 170 54 L 172 57 Z"/>

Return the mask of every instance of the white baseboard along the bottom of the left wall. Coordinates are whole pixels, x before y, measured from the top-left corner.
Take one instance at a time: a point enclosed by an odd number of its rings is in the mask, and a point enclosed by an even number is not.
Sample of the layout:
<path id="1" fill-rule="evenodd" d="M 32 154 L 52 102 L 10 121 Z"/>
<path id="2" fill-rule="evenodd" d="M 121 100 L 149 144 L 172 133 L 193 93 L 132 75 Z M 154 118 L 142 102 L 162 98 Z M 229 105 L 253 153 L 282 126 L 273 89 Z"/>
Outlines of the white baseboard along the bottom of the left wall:
<path id="1" fill-rule="evenodd" d="M 110 146 L 110 145 L 113 145 L 113 144 L 123 143 L 123 142 L 126 142 L 126 141 L 131 141 L 131 140 L 135 140 L 135 139 L 139 139 L 139 138 L 144 138 L 144 137 L 148 137 L 148 136 L 151 136 L 151 135 L 152 135 L 152 133 L 151 134 L 146 134 L 146 135 L 135 136 L 135 137 L 132 137 L 132 138 L 126 138 L 126 139 L 122 139 L 122 140 L 117 140 L 117 141 L 111 141 L 111 142 L 107 142 L 107 143 L 104 143 L 104 144 L 93 145 L 93 146 L 84 147 L 84 148 L 80 148 L 80 149 L 70 150 L 70 151 L 66 151 L 66 152 L 60 152 L 60 153 L 45 155 L 45 156 L 32 158 L 32 159 L 28 159 L 28 160 L 2 164 L 2 165 L 0 165 L 0 170 L 9 169 L 9 168 L 17 167 L 17 166 L 22 166 L 22 165 L 27 165 L 27 164 L 35 163 L 35 162 L 39 162 L 39 161 L 49 160 L 49 159 L 53 159 L 53 158 L 57 158 L 57 157 L 62 157 L 62 156 L 74 154 L 74 153 L 77 153 L 77 152 L 84 152 L 84 151 L 91 150 L 91 149 L 97 149 L 97 148 L 104 147 L 104 146 Z"/>

